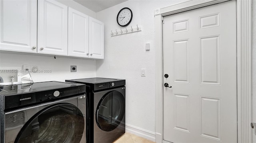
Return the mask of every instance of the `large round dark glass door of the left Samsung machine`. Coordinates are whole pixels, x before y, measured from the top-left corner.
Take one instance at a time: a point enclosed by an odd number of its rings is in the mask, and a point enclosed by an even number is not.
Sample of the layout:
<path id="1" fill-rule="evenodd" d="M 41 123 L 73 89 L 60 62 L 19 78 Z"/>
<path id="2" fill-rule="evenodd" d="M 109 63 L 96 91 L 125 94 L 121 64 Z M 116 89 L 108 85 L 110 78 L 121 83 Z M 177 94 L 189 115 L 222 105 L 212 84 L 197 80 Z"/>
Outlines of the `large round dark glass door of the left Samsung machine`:
<path id="1" fill-rule="evenodd" d="M 82 112 L 76 106 L 55 104 L 30 118 L 15 143 L 79 143 L 84 124 Z"/>

